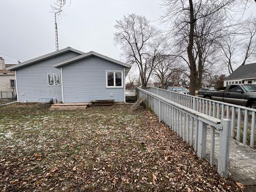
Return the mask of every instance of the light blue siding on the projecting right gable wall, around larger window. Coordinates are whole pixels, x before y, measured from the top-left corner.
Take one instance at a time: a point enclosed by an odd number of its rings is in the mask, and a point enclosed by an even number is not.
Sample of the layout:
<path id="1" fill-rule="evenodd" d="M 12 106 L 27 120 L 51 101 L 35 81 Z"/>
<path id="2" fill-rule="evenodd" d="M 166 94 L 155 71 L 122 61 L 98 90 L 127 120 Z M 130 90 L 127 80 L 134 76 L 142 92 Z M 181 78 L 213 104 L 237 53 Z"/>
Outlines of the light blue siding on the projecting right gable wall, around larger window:
<path id="1" fill-rule="evenodd" d="M 123 66 L 96 56 L 62 66 L 64 102 L 91 102 L 91 100 L 101 99 L 124 102 L 124 87 L 108 88 L 106 86 L 106 71 L 122 71 L 123 82 Z"/>

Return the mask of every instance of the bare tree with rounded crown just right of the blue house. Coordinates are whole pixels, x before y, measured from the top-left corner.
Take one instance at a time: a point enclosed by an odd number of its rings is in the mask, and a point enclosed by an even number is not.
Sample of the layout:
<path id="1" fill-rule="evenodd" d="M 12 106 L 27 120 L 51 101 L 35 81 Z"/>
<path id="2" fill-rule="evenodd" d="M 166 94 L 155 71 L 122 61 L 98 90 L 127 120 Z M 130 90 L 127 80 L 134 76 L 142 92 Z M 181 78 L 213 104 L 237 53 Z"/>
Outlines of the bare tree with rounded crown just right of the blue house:
<path id="1" fill-rule="evenodd" d="M 142 87 L 146 87 L 157 65 L 158 55 L 164 55 L 164 38 L 160 31 L 141 15 L 129 14 L 116 21 L 115 43 L 121 45 L 126 61 L 138 66 Z"/>

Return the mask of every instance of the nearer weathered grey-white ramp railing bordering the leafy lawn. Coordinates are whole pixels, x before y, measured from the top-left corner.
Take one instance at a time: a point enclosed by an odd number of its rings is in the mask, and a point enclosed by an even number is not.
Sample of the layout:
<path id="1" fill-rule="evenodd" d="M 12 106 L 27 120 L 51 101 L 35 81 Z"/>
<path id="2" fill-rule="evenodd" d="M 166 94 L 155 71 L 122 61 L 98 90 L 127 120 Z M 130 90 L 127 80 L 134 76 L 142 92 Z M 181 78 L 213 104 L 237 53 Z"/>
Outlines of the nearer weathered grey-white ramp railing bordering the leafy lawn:
<path id="1" fill-rule="evenodd" d="M 219 155 L 218 155 L 218 173 L 222 177 L 228 175 L 229 165 L 229 145 L 230 145 L 230 120 L 210 117 L 199 113 L 193 109 L 182 106 L 176 102 L 170 101 L 155 93 L 137 88 L 138 98 L 146 96 L 143 105 L 153 111 L 163 122 L 173 131 L 180 135 L 184 141 L 188 142 L 200 158 L 206 157 L 206 134 L 207 126 L 211 127 L 211 150 L 210 164 L 214 164 L 215 152 L 215 130 L 220 132 L 219 137 Z M 188 100 L 187 100 L 188 102 Z"/>

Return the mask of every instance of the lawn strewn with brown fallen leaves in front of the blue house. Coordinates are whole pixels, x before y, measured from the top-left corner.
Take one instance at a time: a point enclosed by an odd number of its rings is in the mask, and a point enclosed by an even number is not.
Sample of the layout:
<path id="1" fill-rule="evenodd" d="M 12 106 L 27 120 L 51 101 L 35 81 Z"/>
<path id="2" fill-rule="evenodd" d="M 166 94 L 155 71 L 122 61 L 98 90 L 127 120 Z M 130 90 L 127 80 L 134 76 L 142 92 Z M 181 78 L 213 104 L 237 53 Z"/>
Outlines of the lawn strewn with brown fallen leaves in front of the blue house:
<path id="1" fill-rule="evenodd" d="M 145 109 L 49 108 L 0 108 L 1 191 L 241 191 Z"/>

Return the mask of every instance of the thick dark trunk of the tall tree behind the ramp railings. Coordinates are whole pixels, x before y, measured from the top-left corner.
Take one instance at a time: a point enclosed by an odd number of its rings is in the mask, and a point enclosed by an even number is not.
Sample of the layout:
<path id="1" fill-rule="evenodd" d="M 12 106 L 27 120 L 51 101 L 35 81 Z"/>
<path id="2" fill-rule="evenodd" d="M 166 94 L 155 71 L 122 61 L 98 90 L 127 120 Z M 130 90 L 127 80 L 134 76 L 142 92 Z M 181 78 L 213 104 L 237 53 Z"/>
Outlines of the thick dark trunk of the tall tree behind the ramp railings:
<path id="1" fill-rule="evenodd" d="M 190 29 L 189 29 L 189 43 L 187 47 L 188 60 L 190 65 L 189 94 L 195 95 L 197 71 L 196 71 L 196 63 L 193 55 L 194 29 L 195 29 L 193 0 L 189 0 L 189 17 L 190 17 L 189 19 Z"/>

